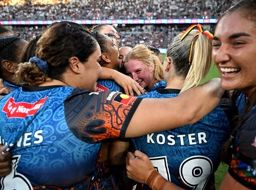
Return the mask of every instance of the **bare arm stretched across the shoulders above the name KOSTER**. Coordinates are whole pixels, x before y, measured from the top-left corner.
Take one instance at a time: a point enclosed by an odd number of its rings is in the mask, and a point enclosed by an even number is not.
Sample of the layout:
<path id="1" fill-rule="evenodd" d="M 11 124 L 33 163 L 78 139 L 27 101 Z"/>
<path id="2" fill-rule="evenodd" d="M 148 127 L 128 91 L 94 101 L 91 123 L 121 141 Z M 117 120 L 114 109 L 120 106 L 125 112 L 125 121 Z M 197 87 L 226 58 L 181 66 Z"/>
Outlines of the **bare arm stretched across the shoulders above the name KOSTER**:
<path id="1" fill-rule="evenodd" d="M 125 137 L 193 124 L 218 105 L 223 92 L 219 81 L 211 81 L 184 91 L 175 98 L 143 99 L 132 116 Z"/>

